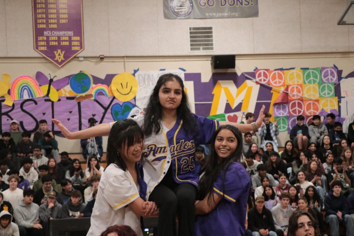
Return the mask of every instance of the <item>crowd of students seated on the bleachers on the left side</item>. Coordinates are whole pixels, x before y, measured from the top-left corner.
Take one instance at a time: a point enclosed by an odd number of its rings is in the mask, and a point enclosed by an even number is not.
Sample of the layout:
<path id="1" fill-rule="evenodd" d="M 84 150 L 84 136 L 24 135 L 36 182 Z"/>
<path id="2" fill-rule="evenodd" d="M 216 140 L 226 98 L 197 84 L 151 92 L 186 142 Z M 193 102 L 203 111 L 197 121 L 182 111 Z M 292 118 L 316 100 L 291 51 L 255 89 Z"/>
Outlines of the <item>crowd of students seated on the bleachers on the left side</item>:
<path id="1" fill-rule="evenodd" d="M 103 167 L 95 155 L 85 170 L 65 151 L 59 161 L 57 141 L 46 124 L 40 121 L 34 141 L 18 131 L 16 120 L 11 132 L 2 133 L 0 235 L 47 235 L 49 219 L 91 217 Z"/>

